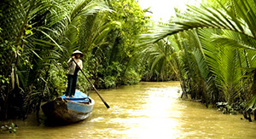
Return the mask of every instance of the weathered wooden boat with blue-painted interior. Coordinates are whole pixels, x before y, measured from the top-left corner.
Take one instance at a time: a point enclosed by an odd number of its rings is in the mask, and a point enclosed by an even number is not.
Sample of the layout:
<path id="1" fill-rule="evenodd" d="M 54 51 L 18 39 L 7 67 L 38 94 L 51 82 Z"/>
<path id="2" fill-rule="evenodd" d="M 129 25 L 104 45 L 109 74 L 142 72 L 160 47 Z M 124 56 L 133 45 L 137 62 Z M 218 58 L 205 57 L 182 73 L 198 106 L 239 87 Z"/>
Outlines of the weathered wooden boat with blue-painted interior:
<path id="1" fill-rule="evenodd" d="M 95 101 L 76 90 L 75 96 L 66 98 L 65 95 L 42 105 L 47 119 L 65 124 L 76 123 L 87 119 L 93 109 Z"/>

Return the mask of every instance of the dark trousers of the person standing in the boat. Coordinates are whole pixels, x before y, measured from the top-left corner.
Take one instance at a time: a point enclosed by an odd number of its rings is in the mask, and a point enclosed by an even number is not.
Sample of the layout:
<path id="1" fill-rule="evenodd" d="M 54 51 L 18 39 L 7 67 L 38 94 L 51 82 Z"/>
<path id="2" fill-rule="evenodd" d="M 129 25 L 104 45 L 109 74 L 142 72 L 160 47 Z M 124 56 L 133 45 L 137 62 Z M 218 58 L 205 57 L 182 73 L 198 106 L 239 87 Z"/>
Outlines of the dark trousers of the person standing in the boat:
<path id="1" fill-rule="evenodd" d="M 67 91 L 66 96 L 74 96 L 77 86 L 78 75 L 67 76 Z"/>

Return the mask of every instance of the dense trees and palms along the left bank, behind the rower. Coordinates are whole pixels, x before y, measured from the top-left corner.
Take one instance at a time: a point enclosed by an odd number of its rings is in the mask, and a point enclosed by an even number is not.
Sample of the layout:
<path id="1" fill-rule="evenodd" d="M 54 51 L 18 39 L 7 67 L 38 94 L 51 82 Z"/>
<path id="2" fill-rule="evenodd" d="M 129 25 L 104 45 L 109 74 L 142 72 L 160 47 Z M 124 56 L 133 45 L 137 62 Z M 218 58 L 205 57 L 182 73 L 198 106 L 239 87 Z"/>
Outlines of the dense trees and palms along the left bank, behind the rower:
<path id="1" fill-rule="evenodd" d="M 76 49 L 97 88 L 137 84 L 143 76 L 131 58 L 149 17 L 135 0 L 5 0 L 0 11 L 3 119 L 26 117 L 41 101 L 62 95 Z M 78 86 L 90 88 L 82 75 Z"/>

